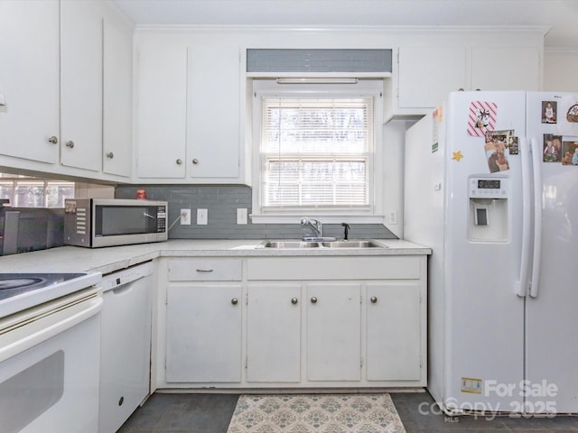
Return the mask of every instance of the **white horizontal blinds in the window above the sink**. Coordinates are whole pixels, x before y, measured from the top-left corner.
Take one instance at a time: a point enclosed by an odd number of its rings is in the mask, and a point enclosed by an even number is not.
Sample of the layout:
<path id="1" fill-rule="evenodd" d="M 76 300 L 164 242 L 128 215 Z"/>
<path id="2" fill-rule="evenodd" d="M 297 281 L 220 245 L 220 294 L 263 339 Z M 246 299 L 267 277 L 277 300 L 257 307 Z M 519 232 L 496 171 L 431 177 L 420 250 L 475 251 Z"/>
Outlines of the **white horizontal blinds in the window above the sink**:
<path id="1" fill-rule="evenodd" d="M 368 207 L 372 98 L 264 98 L 263 207 Z"/>

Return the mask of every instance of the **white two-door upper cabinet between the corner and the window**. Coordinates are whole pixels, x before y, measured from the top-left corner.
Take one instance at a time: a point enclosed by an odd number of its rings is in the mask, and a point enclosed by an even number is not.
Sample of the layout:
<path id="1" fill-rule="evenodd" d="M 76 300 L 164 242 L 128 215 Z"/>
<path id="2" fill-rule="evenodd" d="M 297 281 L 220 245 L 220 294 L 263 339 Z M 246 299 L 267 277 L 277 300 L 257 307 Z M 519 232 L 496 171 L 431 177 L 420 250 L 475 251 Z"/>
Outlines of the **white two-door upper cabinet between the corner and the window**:
<path id="1" fill-rule="evenodd" d="M 135 181 L 240 181 L 240 51 L 206 38 L 136 41 Z"/>

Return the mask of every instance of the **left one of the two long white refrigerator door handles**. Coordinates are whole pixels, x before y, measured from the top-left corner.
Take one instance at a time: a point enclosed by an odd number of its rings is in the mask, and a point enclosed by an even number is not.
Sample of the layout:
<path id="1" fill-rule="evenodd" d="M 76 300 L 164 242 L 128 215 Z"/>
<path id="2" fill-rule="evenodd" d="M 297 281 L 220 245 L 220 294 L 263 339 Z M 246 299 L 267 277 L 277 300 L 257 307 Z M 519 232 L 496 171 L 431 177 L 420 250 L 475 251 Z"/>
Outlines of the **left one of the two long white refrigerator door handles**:
<path id="1" fill-rule="evenodd" d="M 527 295 L 527 279 L 530 263 L 530 239 L 531 233 L 531 201 L 532 185 L 530 176 L 530 143 L 526 138 L 520 137 L 520 161 L 522 171 L 522 254 L 520 257 L 520 273 L 516 283 L 517 296 Z"/>

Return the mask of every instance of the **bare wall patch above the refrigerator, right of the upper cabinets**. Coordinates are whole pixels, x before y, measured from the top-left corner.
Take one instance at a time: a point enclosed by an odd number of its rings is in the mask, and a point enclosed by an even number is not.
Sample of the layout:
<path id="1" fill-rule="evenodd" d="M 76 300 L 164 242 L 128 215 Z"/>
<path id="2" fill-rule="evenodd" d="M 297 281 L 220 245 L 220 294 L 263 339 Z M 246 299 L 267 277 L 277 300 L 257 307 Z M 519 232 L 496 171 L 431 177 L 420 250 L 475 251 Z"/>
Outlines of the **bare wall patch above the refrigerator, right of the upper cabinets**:
<path id="1" fill-rule="evenodd" d="M 544 90 L 578 92 L 578 49 L 544 51 Z"/>

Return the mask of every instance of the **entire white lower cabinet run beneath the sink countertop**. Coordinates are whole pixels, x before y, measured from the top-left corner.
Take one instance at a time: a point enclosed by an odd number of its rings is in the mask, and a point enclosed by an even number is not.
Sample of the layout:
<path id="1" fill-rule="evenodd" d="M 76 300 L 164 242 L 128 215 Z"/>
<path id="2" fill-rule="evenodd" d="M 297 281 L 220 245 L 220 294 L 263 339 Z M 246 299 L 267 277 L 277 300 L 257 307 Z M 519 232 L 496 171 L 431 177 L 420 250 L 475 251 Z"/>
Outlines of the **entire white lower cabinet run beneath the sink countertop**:
<path id="1" fill-rule="evenodd" d="M 168 259 L 160 388 L 423 387 L 426 257 Z"/>

